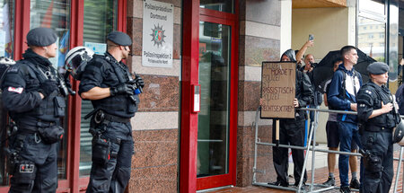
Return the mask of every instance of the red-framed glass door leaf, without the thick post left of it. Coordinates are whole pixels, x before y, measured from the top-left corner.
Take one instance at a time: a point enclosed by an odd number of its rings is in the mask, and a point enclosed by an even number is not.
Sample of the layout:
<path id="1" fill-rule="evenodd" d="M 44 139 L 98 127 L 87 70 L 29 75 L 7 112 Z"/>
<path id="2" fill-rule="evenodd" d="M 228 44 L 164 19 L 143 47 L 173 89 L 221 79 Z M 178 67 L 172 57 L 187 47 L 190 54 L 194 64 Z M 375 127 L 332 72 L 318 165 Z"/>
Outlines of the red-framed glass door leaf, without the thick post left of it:
<path id="1" fill-rule="evenodd" d="M 211 189 L 235 183 L 235 25 L 209 16 L 199 19 L 197 189 Z"/>

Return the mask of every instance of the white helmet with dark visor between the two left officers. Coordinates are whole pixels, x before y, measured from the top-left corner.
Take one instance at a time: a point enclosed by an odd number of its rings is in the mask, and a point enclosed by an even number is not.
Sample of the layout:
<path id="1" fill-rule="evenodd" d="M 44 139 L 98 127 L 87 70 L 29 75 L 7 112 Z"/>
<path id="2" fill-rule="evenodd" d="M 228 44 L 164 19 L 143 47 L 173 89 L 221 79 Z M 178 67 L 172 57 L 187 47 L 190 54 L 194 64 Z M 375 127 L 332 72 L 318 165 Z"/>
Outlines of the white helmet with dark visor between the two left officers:
<path id="1" fill-rule="evenodd" d="M 94 52 L 90 48 L 75 47 L 66 54 L 65 68 L 70 71 L 76 80 L 80 80 L 87 63 L 92 59 Z"/>

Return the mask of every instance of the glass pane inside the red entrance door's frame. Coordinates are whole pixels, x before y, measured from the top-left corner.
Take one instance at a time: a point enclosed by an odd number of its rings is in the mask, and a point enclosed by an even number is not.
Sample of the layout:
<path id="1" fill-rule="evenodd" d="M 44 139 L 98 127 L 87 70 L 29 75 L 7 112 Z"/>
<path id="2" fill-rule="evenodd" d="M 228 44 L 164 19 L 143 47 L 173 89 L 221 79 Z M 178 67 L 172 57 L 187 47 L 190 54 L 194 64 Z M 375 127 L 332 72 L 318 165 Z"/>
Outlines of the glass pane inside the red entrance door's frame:
<path id="1" fill-rule="evenodd" d="M 229 171 L 230 30 L 199 23 L 198 177 Z"/>

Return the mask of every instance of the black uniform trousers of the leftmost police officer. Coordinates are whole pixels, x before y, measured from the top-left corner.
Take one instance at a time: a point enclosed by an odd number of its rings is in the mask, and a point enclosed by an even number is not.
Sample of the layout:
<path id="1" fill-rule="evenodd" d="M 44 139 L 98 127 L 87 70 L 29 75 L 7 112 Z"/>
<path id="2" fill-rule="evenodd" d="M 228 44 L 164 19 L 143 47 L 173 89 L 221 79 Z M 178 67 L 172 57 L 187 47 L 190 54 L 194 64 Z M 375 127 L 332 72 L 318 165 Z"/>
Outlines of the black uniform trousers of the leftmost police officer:
<path id="1" fill-rule="evenodd" d="M 22 130 L 21 128 L 19 129 Z M 58 143 L 45 144 L 40 139 L 39 134 L 24 135 L 25 139 L 23 140 L 23 147 L 20 152 L 21 162 L 34 164 L 35 167 L 33 172 L 19 172 L 20 164 L 17 164 L 15 167 L 16 171 L 14 171 L 13 177 L 10 180 L 10 192 L 56 192 Z"/>

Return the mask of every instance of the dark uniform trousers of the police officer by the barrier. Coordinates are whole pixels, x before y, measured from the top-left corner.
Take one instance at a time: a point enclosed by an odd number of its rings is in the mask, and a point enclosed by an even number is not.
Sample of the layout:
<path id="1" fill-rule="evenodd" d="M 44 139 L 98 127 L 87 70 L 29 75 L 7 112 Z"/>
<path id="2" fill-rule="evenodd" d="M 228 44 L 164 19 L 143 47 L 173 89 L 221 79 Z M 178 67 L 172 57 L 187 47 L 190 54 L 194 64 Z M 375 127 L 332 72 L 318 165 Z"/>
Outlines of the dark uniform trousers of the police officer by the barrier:
<path id="1" fill-rule="evenodd" d="M 371 154 L 378 156 L 382 161 L 382 171 L 380 172 L 371 172 L 367 168 L 364 168 L 364 175 L 363 178 L 361 178 L 361 192 L 389 192 L 394 175 L 391 135 L 390 129 L 384 129 L 379 132 L 364 131 L 361 136 L 362 145 L 364 145 L 365 149 Z M 369 141 L 370 138 L 373 138 L 373 142 Z"/>

